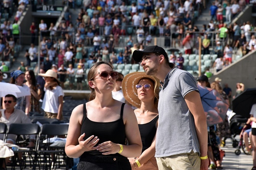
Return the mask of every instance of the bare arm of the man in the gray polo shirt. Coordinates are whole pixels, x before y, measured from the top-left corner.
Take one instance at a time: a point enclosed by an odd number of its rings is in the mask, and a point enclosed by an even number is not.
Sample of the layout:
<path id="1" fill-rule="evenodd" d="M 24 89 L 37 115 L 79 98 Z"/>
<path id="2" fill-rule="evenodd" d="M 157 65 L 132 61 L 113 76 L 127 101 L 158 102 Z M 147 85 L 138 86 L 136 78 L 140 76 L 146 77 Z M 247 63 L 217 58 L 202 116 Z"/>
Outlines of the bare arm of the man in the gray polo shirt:
<path id="1" fill-rule="evenodd" d="M 196 134 L 198 136 L 199 146 L 200 146 L 200 156 L 207 156 L 207 123 L 206 115 L 204 114 L 203 105 L 201 102 L 200 95 L 197 91 L 191 91 L 184 97 L 188 109 L 194 116 L 194 122 L 196 127 Z M 201 170 L 208 170 L 208 159 L 201 160 Z"/>

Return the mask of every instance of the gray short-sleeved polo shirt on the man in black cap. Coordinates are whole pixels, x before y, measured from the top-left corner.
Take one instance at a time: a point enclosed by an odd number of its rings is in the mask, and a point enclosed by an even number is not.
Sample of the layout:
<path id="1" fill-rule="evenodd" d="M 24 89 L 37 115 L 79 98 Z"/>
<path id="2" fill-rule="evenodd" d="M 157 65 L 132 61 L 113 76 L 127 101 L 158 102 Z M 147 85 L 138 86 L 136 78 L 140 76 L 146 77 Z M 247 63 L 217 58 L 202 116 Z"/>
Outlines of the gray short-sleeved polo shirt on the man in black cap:
<path id="1" fill-rule="evenodd" d="M 194 90 L 198 91 L 196 80 L 186 71 L 175 67 L 165 77 L 159 93 L 155 157 L 200 151 L 194 117 L 184 99 Z"/>

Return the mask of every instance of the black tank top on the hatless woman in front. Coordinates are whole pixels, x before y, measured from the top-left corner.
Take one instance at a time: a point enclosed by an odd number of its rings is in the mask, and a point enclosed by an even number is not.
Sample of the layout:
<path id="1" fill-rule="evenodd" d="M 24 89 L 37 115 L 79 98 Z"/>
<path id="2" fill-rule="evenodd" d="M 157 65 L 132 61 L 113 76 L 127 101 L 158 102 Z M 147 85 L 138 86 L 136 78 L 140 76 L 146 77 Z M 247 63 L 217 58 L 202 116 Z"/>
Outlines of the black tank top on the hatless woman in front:
<path id="1" fill-rule="evenodd" d="M 84 140 L 90 136 L 98 136 L 99 141 L 96 146 L 105 141 L 112 141 L 117 144 L 125 144 L 125 125 L 123 124 L 123 107 L 125 103 L 122 104 L 120 119 L 113 122 L 93 122 L 87 118 L 86 115 L 86 104 L 84 104 L 83 122 L 81 126 L 81 135 L 85 133 Z M 108 156 L 120 156 L 120 154 L 110 154 Z M 97 150 L 84 152 L 81 156 L 104 156 L 102 152 Z"/>

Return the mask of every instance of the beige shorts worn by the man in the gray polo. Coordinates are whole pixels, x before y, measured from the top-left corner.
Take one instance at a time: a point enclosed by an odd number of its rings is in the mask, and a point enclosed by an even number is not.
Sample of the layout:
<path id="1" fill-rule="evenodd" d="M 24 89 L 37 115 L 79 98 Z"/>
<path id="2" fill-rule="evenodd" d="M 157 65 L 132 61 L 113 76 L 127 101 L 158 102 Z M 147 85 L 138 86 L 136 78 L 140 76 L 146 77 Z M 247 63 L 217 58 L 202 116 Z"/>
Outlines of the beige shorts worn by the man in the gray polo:
<path id="1" fill-rule="evenodd" d="M 200 170 L 201 159 L 198 153 L 172 155 L 156 158 L 159 170 Z"/>

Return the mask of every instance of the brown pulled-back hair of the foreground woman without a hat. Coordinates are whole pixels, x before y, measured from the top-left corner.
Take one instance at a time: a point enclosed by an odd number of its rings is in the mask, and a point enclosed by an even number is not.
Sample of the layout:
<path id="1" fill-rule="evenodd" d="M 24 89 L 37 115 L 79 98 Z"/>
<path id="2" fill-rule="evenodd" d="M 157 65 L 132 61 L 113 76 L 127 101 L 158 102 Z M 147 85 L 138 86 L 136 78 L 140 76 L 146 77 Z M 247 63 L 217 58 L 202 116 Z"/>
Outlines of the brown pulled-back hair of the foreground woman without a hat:
<path id="1" fill-rule="evenodd" d="M 101 65 L 101 64 L 107 64 L 108 66 L 110 66 L 112 69 L 113 67 L 109 64 L 109 63 L 106 63 L 105 61 L 100 61 L 100 62 L 97 62 L 95 63 L 91 69 L 89 70 L 88 72 L 88 75 L 87 75 L 87 82 L 89 83 L 89 81 L 91 81 L 92 79 L 94 79 L 95 75 L 97 74 L 97 68 Z M 91 88 L 89 86 L 89 89 L 92 91 L 91 94 L 89 95 L 89 101 L 92 101 L 93 99 L 95 99 L 96 97 L 96 92 L 95 92 L 95 88 Z"/>

